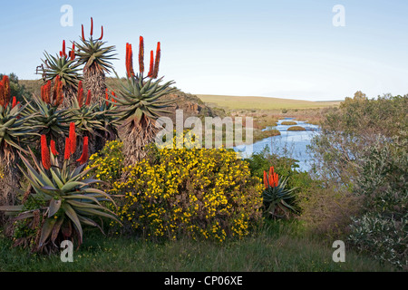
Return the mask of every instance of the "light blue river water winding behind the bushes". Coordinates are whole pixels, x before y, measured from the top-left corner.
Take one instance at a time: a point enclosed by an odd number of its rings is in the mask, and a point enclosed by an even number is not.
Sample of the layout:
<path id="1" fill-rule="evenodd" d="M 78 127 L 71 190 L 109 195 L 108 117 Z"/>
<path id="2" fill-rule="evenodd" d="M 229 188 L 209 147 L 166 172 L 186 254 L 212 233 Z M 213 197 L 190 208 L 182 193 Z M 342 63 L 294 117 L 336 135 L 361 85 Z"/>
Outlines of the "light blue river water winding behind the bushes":
<path id="1" fill-rule="evenodd" d="M 282 121 L 293 121 L 293 118 L 279 120 L 277 126 L 264 129 L 276 129 L 280 131 L 281 135 L 257 141 L 253 144 L 253 153 L 258 153 L 264 150 L 265 147 L 268 147 L 271 153 L 298 160 L 298 170 L 308 171 L 312 167 L 313 155 L 307 149 L 307 145 L 310 145 L 312 138 L 319 133 L 319 126 L 308 124 L 306 121 L 296 121 L 296 126 L 304 127 L 306 131 L 287 131 L 289 127 L 295 125 L 282 125 Z M 248 146 L 245 145 L 235 147 L 234 150 L 241 151 L 244 158 L 249 157 L 251 151 Z"/>

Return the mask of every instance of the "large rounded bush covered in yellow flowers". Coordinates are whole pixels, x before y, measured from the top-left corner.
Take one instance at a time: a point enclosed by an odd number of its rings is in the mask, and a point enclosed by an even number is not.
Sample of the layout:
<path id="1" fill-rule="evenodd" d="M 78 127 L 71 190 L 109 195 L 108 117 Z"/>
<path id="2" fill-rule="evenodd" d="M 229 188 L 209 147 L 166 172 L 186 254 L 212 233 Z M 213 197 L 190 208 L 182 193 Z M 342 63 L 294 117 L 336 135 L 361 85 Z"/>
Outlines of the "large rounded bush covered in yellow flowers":
<path id="1" fill-rule="evenodd" d="M 175 140 L 174 140 L 175 141 Z M 121 142 L 93 155 L 92 175 L 111 183 L 125 229 L 146 238 L 245 237 L 261 219 L 262 181 L 226 149 L 158 149 L 122 168 Z M 120 179 L 123 170 L 124 179 Z M 114 223 L 111 223 L 114 226 Z"/>

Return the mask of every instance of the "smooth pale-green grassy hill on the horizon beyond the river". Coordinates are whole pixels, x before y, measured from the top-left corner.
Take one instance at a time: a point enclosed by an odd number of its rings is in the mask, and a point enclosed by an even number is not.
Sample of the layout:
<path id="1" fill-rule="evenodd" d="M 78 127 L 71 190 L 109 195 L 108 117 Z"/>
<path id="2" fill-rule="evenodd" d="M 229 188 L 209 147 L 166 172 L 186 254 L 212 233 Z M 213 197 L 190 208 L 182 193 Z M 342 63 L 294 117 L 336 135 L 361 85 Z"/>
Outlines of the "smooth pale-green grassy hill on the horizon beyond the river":
<path id="1" fill-rule="evenodd" d="M 213 103 L 219 107 L 227 109 L 257 109 L 257 110 L 275 110 L 275 109 L 310 109 L 325 108 L 336 106 L 340 102 L 309 102 L 290 99 L 267 98 L 267 97 L 238 97 L 197 94 L 202 102 Z"/>

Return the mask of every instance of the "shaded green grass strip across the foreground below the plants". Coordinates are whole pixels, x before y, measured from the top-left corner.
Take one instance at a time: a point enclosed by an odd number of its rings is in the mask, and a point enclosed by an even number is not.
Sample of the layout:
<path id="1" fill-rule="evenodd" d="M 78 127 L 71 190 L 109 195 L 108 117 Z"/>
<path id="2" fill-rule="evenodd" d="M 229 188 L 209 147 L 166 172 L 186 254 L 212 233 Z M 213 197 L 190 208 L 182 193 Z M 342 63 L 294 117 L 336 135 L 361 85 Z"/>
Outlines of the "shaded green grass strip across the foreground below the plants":
<path id="1" fill-rule="evenodd" d="M 87 232 L 73 263 L 59 255 L 39 256 L 0 237 L 0 271 L 270 272 L 393 271 L 368 256 L 346 250 L 345 263 L 332 260 L 334 248 L 302 234 L 294 222 L 268 222 L 257 234 L 217 244 L 179 240 L 153 243 L 135 237 L 102 237 Z"/>

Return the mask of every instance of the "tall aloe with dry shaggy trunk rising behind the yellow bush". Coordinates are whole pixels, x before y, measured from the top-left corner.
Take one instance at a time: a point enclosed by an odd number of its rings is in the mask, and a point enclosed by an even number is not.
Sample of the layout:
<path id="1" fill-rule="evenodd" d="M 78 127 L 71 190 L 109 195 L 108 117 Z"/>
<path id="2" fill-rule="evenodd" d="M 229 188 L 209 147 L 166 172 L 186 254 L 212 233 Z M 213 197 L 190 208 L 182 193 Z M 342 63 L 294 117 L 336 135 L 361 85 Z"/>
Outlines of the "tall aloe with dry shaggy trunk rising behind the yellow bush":
<path id="1" fill-rule="evenodd" d="M 127 82 L 121 83 L 116 96 L 112 96 L 116 102 L 116 116 L 121 121 L 123 130 L 123 150 L 126 166 L 132 165 L 145 157 L 144 147 L 150 144 L 158 131 L 156 120 L 160 114 L 166 113 L 165 109 L 173 101 L 163 101 L 162 96 L 174 92 L 170 88 L 173 81 L 160 83 L 162 77 L 155 80 L 159 73 L 160 63 L 160 43 L 158 43 L 156 58 L 153 62 L 151 52 L 150 70 L 146 77 L 143 63 L 143 37 L 140 37 L 139 44 L 139 73 L 133 72 L 131 44 L 126 45 L 126 73 Z"/>

